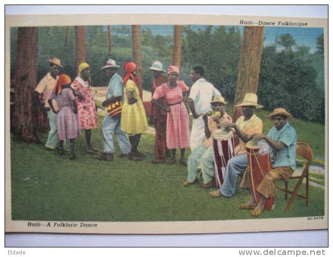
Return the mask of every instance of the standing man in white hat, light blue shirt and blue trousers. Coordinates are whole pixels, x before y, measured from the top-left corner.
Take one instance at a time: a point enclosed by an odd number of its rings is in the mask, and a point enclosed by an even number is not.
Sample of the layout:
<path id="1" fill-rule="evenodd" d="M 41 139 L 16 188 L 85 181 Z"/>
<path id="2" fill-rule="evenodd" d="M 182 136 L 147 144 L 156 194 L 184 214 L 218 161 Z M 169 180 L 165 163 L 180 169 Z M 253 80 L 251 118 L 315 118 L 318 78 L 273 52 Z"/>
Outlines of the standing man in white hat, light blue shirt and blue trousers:
<path id="1" fill-rule="evenodd" d="M 108 59 L 105 66 L 102 67 L 105 74 L 110 81 L 108 83 L 108 89 L 106 93 L 106 99 L 102 103 L 104 107 L 109 106 L 117 102 L 123 102 L 124 100 L 124 90 L 123 90 L 123 79 L 118 75 L 117 69 L 120 66 L 116 65 L 116 61 L 113 59 Z M 104 152 L 97 157 L 100 161 L 113 161 L 115 146 L 113 135 L 116 134 L 117 141 L 122 151 L 117 157 L 123 158 L 128 157 L 131 152 L 131 144 L 125 132 L 121 130 L 120 126 L 121 115 L 113 115 L 107 113 L 104 117 L 102 123 L 102 132 L 104 137 Z"/>

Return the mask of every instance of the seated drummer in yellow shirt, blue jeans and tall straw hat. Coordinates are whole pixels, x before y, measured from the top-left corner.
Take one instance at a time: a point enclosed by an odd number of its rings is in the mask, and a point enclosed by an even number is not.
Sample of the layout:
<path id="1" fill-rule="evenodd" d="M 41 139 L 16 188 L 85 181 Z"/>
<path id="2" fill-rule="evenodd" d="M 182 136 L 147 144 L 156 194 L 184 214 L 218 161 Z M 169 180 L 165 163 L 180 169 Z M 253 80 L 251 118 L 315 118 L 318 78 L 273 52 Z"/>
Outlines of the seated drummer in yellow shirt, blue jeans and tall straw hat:
<path id="1" fill-rule="evenodd" d="M 245 143 L 251 140 L 252 134 L 262 133 L 262 121 L 254 114 L 256 108 L 262 108 L 262 105 L 257 104 L 257 95 L 247 93 L 243 102 L 235 106 L 243 107 L 243 115 L 237 119 L 236 124 L 223 123 L 221 125 L 234 128 L 240 138 L 239 144 L 235 147 L 235 156 L 228 161 L 223 185 L 218 190 L 209 193 L 212 197 L 232 197 L 235 194 L 237 177 L 248 165 Z"/>

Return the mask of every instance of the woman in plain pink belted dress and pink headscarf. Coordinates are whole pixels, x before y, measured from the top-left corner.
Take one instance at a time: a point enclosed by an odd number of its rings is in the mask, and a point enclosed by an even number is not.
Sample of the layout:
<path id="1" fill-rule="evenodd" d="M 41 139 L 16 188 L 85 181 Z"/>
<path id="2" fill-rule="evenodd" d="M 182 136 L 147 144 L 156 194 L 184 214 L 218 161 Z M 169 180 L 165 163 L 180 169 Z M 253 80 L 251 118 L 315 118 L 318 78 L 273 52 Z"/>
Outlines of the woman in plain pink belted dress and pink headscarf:
<path id="1" fill-rule="evenodd" d="M 187 166 L 185 161 L 185 149 L 190 146 L 190 126 L 189 114 L 183 103 L 183 92 L 187 92 L 189 87 L 184 81 L 177 81 L 179 68 L 170 66 L 168 68 L 169 82 L 162 84 L 155 89 L 152 102 L 158 107 L 167 110 L 167 147 L 172 151 L 169 165 L 176 162 L 176 149 L 181 149 L 181 159 L 179 162 Z M 157 99 L 164 97 L 169 106 L 162 106 Z"/>

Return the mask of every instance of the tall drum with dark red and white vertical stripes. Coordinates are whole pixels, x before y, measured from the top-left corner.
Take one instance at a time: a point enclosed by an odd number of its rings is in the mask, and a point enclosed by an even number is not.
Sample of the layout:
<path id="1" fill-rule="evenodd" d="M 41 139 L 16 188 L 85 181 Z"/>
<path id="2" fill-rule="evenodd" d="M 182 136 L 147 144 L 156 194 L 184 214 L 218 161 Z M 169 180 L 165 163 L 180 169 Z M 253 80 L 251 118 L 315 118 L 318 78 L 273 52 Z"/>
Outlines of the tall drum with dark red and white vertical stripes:
<path id="1" fill-rule="evenodd" d="M 233 131 L 226 128 L 215 130 L 212 133 L 212 143 L 216 185 L 221 187 L 226 175 L 228 161 L 235 155 Z"/>

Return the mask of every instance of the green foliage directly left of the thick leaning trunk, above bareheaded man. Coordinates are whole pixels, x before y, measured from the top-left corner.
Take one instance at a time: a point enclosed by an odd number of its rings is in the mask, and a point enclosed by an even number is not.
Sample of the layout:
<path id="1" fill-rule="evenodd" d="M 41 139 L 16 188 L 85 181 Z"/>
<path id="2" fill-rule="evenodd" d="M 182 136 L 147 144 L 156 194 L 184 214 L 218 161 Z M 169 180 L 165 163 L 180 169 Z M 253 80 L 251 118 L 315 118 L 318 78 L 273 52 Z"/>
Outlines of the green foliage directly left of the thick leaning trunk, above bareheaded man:
<path id="1" fill-rule="evenodd" d="M 228 101 L 233 101 L 237 82 L 238 60 L 242 42 L 240 30 L 235 27 L 206 26 L 193 31 L 184 28 L 182 47 L 182 73 L 201 65 L 205 79 L 211 82 Z M 188 77 L 188 76 L 187 76 Z M 186 80 L 189 84 L 191 82 Z"/>

